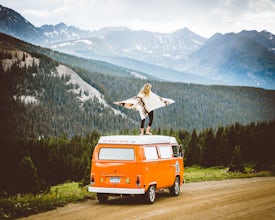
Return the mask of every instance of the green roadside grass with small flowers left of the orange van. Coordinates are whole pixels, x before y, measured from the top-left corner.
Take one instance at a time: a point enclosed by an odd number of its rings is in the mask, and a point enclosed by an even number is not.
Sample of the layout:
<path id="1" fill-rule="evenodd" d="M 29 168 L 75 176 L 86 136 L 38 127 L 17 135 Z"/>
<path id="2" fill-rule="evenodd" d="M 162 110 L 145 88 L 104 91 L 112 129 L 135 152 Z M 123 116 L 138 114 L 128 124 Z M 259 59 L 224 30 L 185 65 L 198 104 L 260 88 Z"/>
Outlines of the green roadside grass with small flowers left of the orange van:
<path id="1" fill-rule="evenodd" d="M 18 194 L 0 198 L 0 219 L 14 219 L 64 206 L 70 202 L 95 198 L 86 187 L 77 182 L 52 186 L 48 192 L 37 195 Z"/>

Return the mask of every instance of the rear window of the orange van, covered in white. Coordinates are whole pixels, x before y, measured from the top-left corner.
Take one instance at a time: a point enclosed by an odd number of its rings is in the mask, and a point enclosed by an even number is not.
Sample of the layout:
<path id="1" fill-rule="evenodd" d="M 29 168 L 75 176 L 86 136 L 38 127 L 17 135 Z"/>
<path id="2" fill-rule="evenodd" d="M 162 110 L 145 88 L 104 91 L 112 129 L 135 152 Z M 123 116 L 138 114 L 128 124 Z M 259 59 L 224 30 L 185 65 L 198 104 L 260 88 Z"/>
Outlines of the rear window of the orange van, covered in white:
<path id="1" fill-rule="evenodd" d="M 135 152 L 133 148 L 107 148 L 103 147 L 99 151 L 100 160 L 134 160 Z"/>

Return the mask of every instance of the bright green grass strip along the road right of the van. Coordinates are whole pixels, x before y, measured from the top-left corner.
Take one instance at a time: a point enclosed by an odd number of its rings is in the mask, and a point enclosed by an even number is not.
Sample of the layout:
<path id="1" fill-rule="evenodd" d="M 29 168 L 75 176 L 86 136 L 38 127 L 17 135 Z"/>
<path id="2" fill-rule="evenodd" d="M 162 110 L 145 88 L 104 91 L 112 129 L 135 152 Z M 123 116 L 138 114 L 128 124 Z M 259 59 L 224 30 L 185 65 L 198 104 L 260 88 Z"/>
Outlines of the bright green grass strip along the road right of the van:
<path id="1" fill-rule="evenodd" d="M 250 164 L 245 166 L 244 173 L 229 172 L 228 170 L 229 170 L 228 167 L 210 167 L 210 168 L 203 168 L 200 166 L 186 167 L 184 170 L 185 183 L 272 176 L 272 173 L 270 171 L 255 172 L 253 169 L 253 166 Z"/>

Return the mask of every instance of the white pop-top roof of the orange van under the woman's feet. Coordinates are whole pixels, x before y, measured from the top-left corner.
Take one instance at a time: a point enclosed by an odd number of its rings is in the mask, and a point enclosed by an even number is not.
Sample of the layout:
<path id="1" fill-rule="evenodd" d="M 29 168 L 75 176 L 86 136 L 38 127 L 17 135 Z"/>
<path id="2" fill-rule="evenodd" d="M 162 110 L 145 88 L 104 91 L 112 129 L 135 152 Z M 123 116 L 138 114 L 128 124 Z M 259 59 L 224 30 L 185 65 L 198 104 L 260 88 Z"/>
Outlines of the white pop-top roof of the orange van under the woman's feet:
<path id="1" fill-rule="evenodd" d="M 112 135 L 101 136 L 99 144 L 174 144 L 178 142 L 175 137 L 164 135 Z"/>

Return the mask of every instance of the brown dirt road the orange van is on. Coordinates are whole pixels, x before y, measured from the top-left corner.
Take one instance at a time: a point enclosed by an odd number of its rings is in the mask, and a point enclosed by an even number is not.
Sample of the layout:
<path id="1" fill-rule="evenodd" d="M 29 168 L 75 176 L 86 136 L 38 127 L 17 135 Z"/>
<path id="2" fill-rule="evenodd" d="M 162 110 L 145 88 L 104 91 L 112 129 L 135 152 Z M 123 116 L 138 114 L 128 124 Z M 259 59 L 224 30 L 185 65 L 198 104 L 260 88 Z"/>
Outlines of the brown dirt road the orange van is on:
<path id="1" fill-rule="evenodd" d="M 178 197 L 160 192 L 152 205 L 136 198 L 89 200 L 23 219 L 275 219 L 275 177 L 187 183 Z"/>

